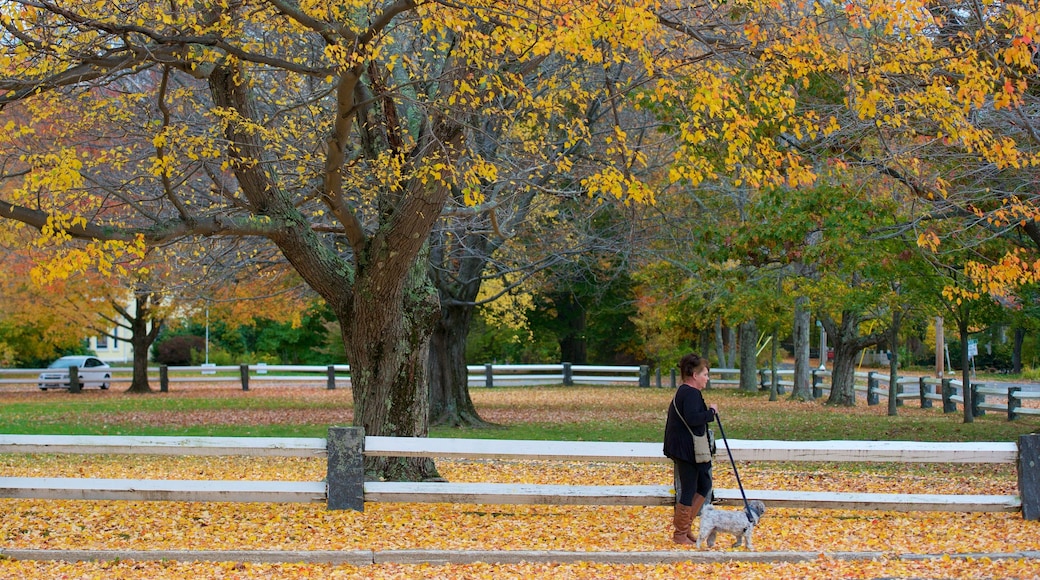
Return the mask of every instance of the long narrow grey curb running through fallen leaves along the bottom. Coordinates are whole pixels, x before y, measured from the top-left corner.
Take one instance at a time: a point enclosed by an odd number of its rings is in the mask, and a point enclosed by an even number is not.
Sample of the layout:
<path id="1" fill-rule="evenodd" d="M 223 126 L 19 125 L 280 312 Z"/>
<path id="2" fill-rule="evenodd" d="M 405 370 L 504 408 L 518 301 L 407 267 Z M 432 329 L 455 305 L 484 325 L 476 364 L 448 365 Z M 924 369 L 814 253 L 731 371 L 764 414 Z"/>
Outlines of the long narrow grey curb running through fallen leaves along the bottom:
<path id="1" fill-rule="evenodd" d="M 804 562 L 821 556 L 836 560 L 928 560 L 950 558 L 1021 559 L 1040 558 L 1040 552 L 997 552 L 971 554 L 900 554 L 883 552 L 697 552 L 669 550 L 661 552 L 572 552 L 555 550 L 357 550 L 357 551 L 279 551 L 279 550 L 0 550 L 0 557 L 15 560 L 62 561 L 208 561 L 208 562 L 310 562 L 329 564 L 370 565 L 445 564 L 488 562 L 511 564 L 571 563 L 591 561 L 616 564 L 660 564 L 675 562 Z"/>

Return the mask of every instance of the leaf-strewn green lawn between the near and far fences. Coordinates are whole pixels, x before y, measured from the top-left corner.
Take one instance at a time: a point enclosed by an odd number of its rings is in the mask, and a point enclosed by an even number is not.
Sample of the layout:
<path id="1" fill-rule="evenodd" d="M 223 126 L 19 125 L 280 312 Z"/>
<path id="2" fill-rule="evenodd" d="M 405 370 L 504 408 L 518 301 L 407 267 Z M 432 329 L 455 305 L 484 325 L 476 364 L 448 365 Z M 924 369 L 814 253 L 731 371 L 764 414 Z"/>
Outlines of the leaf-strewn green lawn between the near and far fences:
<path id="1" fill-rule="evenodd" d="M 558 441 L 660 441 L 670 389 L 634 387 L 526 387 L 474 389 L 478 413 L 495 428 L 434 427 L 432 437 Z M 1016 441 L 1040 429 L 1040 418 L 1008 421 L 990 412 L 973 423 L 960 413 L 908 403 L 899 416 L 887 407 L 832 407 L 733 389 L 706 391 L 721 410 L 726 436 L 777 440 Z M 228 386 L 151 395 L 119 390 L 0 391 L 0 432 L 198 437 L 316 437 L 329 425 L 349 424 L 348 390 Z M 717 434 L 719 430 L 717 429 Z"/>

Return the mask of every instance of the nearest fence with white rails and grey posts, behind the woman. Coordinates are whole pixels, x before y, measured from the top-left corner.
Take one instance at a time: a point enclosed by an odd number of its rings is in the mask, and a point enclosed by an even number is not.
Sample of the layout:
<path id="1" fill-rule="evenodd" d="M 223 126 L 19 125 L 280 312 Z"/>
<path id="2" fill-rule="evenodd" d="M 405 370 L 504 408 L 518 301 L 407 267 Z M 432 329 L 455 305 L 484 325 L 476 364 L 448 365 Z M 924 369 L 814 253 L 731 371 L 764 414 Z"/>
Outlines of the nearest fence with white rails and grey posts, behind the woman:
<path id="1" fill-rule="evenodd" d="M 362 437 L 361 429 L 333 427 L 329 439 L 0 436 L 3 453 L 93 453 L 166 455 L 272 455 L 328 457 L 321 481 L 200 481 L 0 477 L 0 497 L 161 500 L 327 502 L 330 508 L 363 509 L 365 502 L 486 504 L 671 505 L 672 485 L 540 485 L 364 481 L 363 456 L 467 459 L 668 463 L 659 443 L 499 441 Z M 749 500 L 777 507 L 900 511 L 1018 511 L 1040 518 L 1040 482 L 1029 466 L 1040 460 L 1040 434 L 1015 443 L 922 443 L 730 440 L 742 462 L 900 462 L 1015 464 L 1019 495 L 859 494 L 746 490 Z M 723 503 L 739 504 L 737 490 L 716 490 Z"/>

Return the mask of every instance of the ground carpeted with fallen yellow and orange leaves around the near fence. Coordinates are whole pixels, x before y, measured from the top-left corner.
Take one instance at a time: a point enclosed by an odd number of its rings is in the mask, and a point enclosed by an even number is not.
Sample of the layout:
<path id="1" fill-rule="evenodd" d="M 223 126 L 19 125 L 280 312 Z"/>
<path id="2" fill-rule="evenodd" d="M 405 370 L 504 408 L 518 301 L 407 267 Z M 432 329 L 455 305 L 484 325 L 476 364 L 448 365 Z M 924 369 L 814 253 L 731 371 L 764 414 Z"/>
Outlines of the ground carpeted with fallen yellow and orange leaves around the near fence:
<path id="1" fill-rule="evenodd" d="M 349 394 L 317 389 L 263 389 L 258 404 L 232 412 L 197 408 L 95 413 L 105 424 L 189 425 L 236 421 L 289 423 L 301 418 L 342 423 Z M 225 390 L 220 396 L 240 398 Z M 667 393 L 619 391 L 609 400 L 582 392 L 545 395 L 517 391 L 478 394 L 491 421 L 566 422 L 661 420 Z M 33 394 L 34 395 L 34 394 Z M 28 394 L 15 395 L 14 398 Z M 110 397 L 97 393 L 88 397 Z M 189 397 L 190 393 L 177 394 Z M 540 397 L 546 397 L 540 400 Z M 289 415 L 263 399 L 291 397 Z M 4 400 L 9 400 L 5 395 Z M 652 399 L 648 402 L 647 399 Z M 90 400 L 83 398 L 80 400 Z M 727 401 L 730 417 L 737 414 Z M 761 404 L 751 401 L 749 404 Z M 789 408 L 805 403 L 770 403 Z M 83 413 L 85 412 L 85 413 Z M 82 421 L 83 412 L 66 420 Z M 747 412 L 750 415 L 752 411 Z M 878 414 L 875 408 L 842 410 Z M 924 413 L 907 410 L 903 414 Z M 824 410 L 821 417 L 832 414 Z M 53 420 L 53 419 L 51 419 Z M 822 419 L 823 420 L 823 419 Z M 907 439 L 916 439 L 911 433 Z M 920 439 L 928 439 L 920 437 Z M 439 462 L 452 481 L 661 484 L 672 479 L 664 464 L 560 464 L 540 462 Z M 930 494 L 1015 494 L 1013 466 L 742 464 L 748 489 Z M 0 455 L 5 476 L 271 479 L 316 481 L 323 458 Z M 716 467 L 716 483 L 735 487 L 727 463 Z M 125 501 L 0 500 L 0 550 L 566 550 L 654 552 L 681 550 L 670 534 L 666 507 L 369 504 L 363 513 L 328 511 L 323 505 Z M 175 561 L 47 562 L 0 559 L 0 578 L 1035 578 L 1038 559 L 978 557 L 986 553 L 1040 551 L 1040 524 L 1018 513 L 898 513 L 880 511 L 770 509 L 755 533 L 759 552 L 876 552 L 877 561 L 821 557 L 804 563 L 635 564 L 452 564 L 370 566 L 316 563 L 256 564 Z M 716 552 L 733 551 L 723 541 Z M 954 558 L 898 559 L 907 554 Z M 976 557 L 970 557 L 976 556 Z"/>

